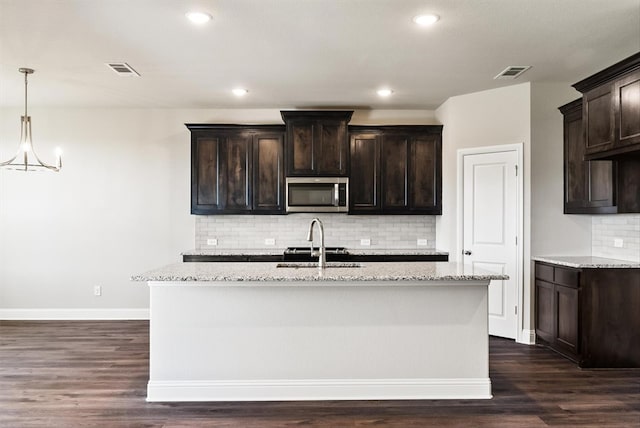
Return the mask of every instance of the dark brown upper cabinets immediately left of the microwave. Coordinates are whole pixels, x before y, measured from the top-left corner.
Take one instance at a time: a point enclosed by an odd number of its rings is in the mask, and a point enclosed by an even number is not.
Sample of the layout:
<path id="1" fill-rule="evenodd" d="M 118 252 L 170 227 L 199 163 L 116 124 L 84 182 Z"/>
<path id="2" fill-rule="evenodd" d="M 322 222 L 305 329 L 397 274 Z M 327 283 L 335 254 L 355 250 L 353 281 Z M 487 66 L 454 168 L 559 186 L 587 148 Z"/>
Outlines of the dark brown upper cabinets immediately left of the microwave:
<path id="1" fill-rule="evenodd" d="M 284 212 L 284 127 L 188 124 L 191 213 Z"/>

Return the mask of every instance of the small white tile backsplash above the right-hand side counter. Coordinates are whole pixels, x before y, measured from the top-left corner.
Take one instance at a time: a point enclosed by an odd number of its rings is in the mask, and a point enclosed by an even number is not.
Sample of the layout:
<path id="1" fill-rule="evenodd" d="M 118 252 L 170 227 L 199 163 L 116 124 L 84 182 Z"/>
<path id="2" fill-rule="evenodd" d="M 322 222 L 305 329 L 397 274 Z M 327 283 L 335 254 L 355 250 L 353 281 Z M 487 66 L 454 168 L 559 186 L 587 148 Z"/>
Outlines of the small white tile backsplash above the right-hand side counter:
<path id="1" fill-rule="evenodd" d="M 616 239 L 623 240 L 621 248 Z M 591 255 L 640 262 L 640 214 L 592 216 Z"/>

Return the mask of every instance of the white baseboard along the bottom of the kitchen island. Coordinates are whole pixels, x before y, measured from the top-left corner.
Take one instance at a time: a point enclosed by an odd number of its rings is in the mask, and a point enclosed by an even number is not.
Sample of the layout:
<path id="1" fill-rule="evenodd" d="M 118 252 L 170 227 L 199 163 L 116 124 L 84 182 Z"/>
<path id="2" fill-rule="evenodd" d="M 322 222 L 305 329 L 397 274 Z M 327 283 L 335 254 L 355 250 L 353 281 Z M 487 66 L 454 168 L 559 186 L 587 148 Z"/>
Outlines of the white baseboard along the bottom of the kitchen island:
<path id="1" fill-rule="evenodd" d="M 147 401 L 489 399 L 483 379 L 149 381 Z"/>

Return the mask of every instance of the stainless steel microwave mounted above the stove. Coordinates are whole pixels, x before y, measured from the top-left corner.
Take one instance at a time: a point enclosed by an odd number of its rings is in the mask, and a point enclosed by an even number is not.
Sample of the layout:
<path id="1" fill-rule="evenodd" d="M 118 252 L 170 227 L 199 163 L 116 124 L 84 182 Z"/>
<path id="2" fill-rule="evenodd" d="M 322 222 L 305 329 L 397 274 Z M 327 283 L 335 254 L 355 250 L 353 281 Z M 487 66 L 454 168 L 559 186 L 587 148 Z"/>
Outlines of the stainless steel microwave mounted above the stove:
<path id="1" fill-rule="evenodd" d="M 347 177 L 287 177 L 287 212 L 348 212 Z"/>

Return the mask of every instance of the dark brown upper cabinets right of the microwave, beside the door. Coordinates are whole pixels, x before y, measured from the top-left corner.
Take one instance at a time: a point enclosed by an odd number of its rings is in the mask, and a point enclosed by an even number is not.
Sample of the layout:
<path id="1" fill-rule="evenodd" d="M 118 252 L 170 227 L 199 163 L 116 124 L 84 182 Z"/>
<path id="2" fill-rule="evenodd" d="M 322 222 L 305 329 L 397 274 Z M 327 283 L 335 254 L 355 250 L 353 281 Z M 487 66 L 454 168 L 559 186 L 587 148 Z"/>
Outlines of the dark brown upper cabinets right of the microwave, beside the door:
<path id="1" fill-rule="evenodd" d="M 442 214 L 442 126 L 351 126 L 350 214 Z"/>

